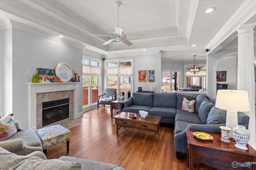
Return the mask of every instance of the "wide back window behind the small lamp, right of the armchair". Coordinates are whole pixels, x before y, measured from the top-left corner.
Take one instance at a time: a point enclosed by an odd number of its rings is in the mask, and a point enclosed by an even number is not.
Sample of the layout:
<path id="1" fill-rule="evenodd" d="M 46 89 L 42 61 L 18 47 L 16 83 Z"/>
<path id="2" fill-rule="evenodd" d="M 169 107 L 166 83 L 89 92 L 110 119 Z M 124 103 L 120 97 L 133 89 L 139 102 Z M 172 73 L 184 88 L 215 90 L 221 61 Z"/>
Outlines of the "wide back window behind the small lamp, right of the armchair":
<path id="1" fill-rule="evenodd" d="M 124 96 L 123 83 L 132 83 L 132 62 L 114 61 L 106 63 L 107 87 L 116 88 L 117 94 Z M 119 96 L 119 95 L 118 95 Z"/>

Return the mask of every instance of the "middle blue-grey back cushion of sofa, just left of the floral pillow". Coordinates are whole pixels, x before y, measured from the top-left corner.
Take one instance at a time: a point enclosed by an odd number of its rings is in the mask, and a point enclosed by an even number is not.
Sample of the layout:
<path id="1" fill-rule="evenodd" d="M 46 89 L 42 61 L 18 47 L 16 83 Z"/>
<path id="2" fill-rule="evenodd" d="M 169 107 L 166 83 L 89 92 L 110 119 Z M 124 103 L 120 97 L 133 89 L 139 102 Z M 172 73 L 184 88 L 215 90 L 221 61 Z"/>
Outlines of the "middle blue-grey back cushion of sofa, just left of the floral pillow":
<path id="1" fill-rule="evenodd" d="M 154 107 L 176 107 L 176 93 L 154 93 Z"/>

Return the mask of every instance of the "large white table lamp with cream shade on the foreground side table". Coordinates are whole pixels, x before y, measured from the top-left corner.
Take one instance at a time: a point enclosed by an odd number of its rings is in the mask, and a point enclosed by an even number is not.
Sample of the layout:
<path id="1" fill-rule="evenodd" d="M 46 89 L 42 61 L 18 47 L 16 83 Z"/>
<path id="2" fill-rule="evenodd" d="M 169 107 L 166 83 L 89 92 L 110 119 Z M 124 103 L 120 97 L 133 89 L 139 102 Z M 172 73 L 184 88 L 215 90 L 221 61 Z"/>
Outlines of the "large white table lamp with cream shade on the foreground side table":
<path id="1" fill-rule="evenodd" d="M 250 111 L 248 92 L 240 90 L 218 90 L 215 107 L 227 110 L 226 127 L 233 130 L 238 125 L 238 111 Z M 233 139 L 233 131 L 230 131 Z"/>

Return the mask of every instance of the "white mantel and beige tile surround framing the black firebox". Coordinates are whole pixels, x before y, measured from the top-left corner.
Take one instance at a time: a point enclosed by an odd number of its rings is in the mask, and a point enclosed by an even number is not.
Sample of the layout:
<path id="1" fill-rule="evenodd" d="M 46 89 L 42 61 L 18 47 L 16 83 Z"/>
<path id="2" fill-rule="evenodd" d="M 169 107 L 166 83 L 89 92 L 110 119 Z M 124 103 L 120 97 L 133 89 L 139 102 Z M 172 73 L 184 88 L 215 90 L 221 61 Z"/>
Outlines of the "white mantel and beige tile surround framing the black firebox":
<path id="1" fill-rule="evenodd" d="M 28 85 L 28 129 L 36 130 L 42 127 L 42 111 L 40 109 L 37 110 L 37 107 L 42 106 L 42 101 L 58 100 L 63 97 L 70 98 L 70 107 L 72 108 L 69 108 L 69 115 L 71 116 L 69 119 L 76 119 L 80 116 L 77 104 L 78 82 L 26 84 Z M 60 93 L 60 91 L 62 92 Z M 64 96 L 61 95 L 63 93 L 65 94 Z M 37 98 L 37 96 L 40 97 Z"/>

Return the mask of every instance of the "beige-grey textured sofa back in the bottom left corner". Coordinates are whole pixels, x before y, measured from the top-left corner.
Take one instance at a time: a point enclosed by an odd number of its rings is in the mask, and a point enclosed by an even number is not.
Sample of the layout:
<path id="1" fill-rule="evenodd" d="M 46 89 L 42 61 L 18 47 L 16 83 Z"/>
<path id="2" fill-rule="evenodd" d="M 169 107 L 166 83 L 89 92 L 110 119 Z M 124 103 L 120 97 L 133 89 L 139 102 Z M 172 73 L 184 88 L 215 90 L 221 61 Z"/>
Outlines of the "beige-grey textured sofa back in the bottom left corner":
<path id="1" fill-rule="evenodd" d="M 36 156 L 20 156 L 0 147 L 0 165 L 1 169 L 72 169 L 81 170 L 80 162 L 67 162 L 58 159 L 44 160 Z"/>

